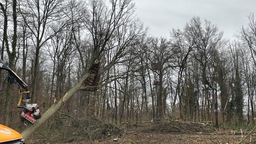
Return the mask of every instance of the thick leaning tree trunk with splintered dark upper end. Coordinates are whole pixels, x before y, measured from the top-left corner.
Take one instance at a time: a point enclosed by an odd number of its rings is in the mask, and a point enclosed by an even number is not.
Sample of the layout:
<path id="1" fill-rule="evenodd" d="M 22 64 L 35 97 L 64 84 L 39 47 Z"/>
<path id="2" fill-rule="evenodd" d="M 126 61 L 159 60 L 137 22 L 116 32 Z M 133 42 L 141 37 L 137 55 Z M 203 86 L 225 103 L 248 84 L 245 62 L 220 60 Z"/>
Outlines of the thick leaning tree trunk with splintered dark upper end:
<path id="1" fill-rule="evenodd" d="M 61 99 L 54 103 L 40 119 L 37 119 L 34 125 L 29 125 L 21 135 L 24 139 L 28 139 L 29 136 L 44 122 L 47 121 L 51 116 L 53 116 L 65 103 L 79 90 L 86 91 L 95 91 L 99 84 L 100 75 L 99 75 L 100 63 L 95 63 L 90 67 L 90 72 L 86 73 L 84 77 L 79 81 L 75 86 L 73 86 Z"/>

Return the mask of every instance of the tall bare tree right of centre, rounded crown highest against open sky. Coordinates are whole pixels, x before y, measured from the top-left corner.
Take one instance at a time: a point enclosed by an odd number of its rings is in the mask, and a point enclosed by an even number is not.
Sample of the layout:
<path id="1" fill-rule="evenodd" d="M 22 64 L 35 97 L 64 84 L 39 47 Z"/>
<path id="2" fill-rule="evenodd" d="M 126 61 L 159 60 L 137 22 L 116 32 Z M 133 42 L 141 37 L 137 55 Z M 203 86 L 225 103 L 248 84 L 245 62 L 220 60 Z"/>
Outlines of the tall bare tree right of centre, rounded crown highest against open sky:
<path id="1" fill-rule="evenodd" d="M 195 43 L 197 47 L 197 54 L 195 55 L 195 59 L 199 61 L 201 68 L 201 76 L 202 83 L 204 84 L 205 89 L 209 86 L 212 88 L 213 81 L 209 82 L 209 78 L 211 77 L 211 55 L 217 48 L 219 42 L 221 41 L 222 32 L 219 32 L 218 27 L 212 25 L 210 21 L 205 20 L 204 24 L 202 24 L 201 20 L 197 17 L 191 19 L 191 31 L 195 36 Z M 213 80 L 213 79 L 212 79 Z M 212 83 L 212 84 L 211 84 Z M 205 95 L 205 104 L 206 104 L 206 119 L 210 119 L 210 110 L 211 110 L 211 101 L 210 97 L 211 93 L 208 91 L 204 91 Z M 213 95 L 212 95 L 213 97 Z M 214 98 L 213 98 L 214 99 Z M 217 102 L 217 99 L 215 99 Z M 203 103 L 202 103 L 203 105 Z M 203 113 L 202 113 L 203 114 Z M 215 114 L 218 116 L 218 113 Z M 204 119 L 204 118 L 203 118 Z"/>

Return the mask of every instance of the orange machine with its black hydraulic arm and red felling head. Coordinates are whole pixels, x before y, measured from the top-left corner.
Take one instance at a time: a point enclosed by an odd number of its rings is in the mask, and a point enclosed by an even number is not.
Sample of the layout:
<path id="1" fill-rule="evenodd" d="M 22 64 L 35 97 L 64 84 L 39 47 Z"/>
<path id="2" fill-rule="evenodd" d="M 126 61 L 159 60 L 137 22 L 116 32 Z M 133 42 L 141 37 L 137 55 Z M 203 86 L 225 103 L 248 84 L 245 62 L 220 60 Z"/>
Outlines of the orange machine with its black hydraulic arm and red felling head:
<path id="1" fill-rule="evenodd" d="M 6 81 L 8 81 L 11 84 L 17 84 L 20 93 L 20 99 L 17 107 L 22 108 L 22 112 L 20 115 L 21 121 L 24 124 L 25 121 L 29 124 L 35 124 L 36 119 L 41 118 L 41 114 L 37 103 L 28 103 L 31 99 L 30 91 L 28 90 L 28 85 L 25 82 L 23 82 L 22 79 L 17 74 L 15 74 L 12 71 L 12 69 L 7 66 L 7 64 L 3 62 L 3 60 L 0 59 L 0 70 L 2 69 L 8 71 L 9 76 L 4 79 L 4 83 L 2 84 L 2 87 L 0 87 L 0 91 L 3 90 Z M 21 88 L 23 89 L 23 92 L 21 91 Z M 22 100 L 22 94 L 26 94 L 25 100 Z M 11 129 L 10 127 L 0 124 L 0 143 L 24 144 L 25 141 L 19 132 Z"/>

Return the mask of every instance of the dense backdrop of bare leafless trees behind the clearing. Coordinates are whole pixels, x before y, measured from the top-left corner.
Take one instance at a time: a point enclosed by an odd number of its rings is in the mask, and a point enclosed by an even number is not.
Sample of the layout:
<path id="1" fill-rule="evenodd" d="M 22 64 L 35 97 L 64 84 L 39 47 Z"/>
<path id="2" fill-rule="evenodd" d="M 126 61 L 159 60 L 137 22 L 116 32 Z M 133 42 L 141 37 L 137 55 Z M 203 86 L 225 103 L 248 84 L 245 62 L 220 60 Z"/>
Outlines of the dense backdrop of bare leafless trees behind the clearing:
<path id="1" fill-rule="evenodd" d="M 253 13 L 231 41 L 199 17 L 170 28 L 169 37 L 148 35 L 132 0 L 5 0 L 0 6 L 1 59 L 30 85 L 41 113 L 99 64 L 97 85 L 73 95 L 46 127 L 60 124 L 60 115 L 128 126 L 168 116 L 216 126 L 254 118 Z M 0 73 L 3 86 L 7 73 Z M 0 93 L 0 122 L 21 125 L 17 86 L 6 84 Z"/>

